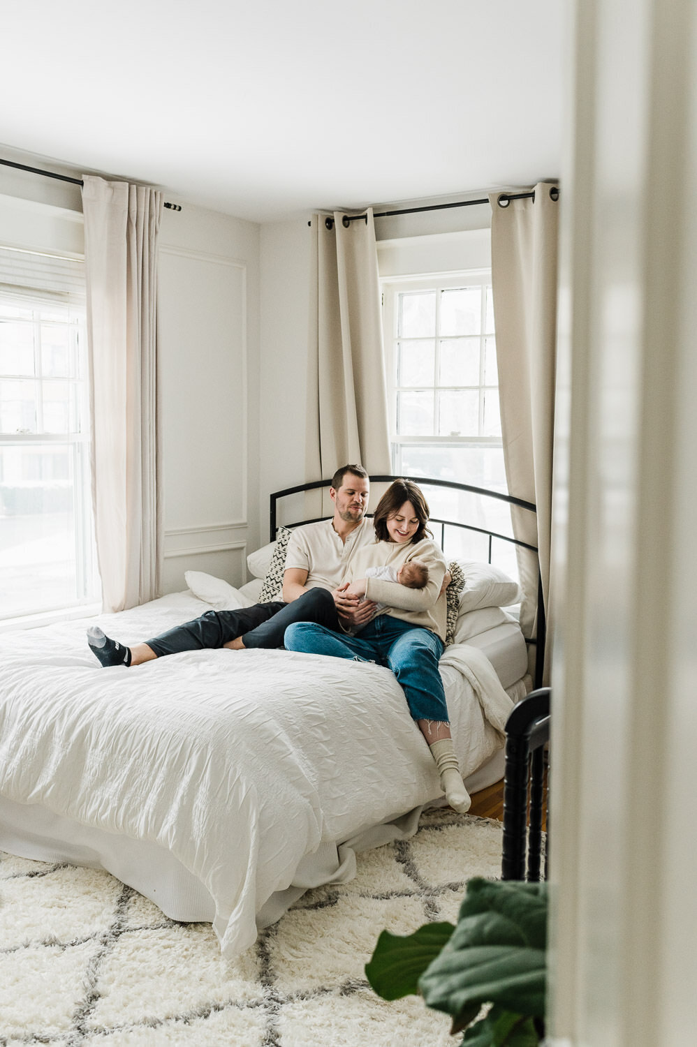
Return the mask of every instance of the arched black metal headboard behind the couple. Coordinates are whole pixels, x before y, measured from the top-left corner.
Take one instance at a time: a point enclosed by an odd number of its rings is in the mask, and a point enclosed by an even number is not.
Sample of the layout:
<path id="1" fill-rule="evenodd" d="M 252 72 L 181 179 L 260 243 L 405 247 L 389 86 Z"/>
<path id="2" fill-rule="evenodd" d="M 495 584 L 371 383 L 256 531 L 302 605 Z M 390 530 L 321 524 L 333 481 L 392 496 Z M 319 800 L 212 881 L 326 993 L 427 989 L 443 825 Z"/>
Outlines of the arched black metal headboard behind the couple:
<path id="1" fill-rule="evenodd" d="M 517 506 L 519 509 L 525 509 L 528 512 L 536 513 L 537 507 L 531 502 L 524 502 L 522 498 L 517 498 L 513 494 L 503 494 L 500 491 L 489 491 L 483 487 L 473 487 L 471 484 L 457 484 L 455 481 L 451 480 L 436 480 L 428 476 L 404 476 L 402 478 L 412 480 L 415 484 L 423 487 L 439 487 L 439 488 L 451 488 L 456 491 L 462 491 L 469 494 L 478 494 L 487 498 L 495 498 L 500 502 L 507 503 L 509 506 Z M 394 480 L 398 480 L 398 476 L 370 476 L 371 483 L 374 484 L 391 484 Z M 299 484 L 296 487 L 286 487 L 282 491 L 275 491 L 269 496 L 269 536 L 270 540 L 274 541 L 276 538 L 276 532 L 278 530 L 278 503 L 281 498 L 288 497 L 293 494 L 302 494 L 306 491 L 315 491 L 321 488 L 331 487 L 330 480 L 317 480 L 310 484 Z M 331 514 L 324 516 L 315 516 L 311 519 L 293 520 L 288 522 L 286 527 L 299 527 L 301 524 L 315 524 L 321 519 L 329 519 Z M 514 538 L 510 535 L 500 534 L 496 531 L 492 531 L 487 528 L 480 527 L 474 524 L 465 524 L 462 520 L 455 519 L 440 519 L 437 516 L 431 516 L 429 518 L 429 525 L 434 524 L 440 525 L 440 544 L 444 543 L 445 528 L 460 528 L 464 531 L 473 531 L 478 534 L 484 534 L 488 536 L 488 562 L 492 562 L 492 542 L 494 539 L 499 539 L 501 541 L 507 541 L 514 545 L 518 545 L 521 549 L 527 549 L 537 555 L 537 547 L 530 545 L 528 542 L 521 541 L 519 538 Z M 539 576 L 538 576 L 539 577 Z M 542 583 L 541 580 L 538 581 L 538 629 L 537 639 L 528 639 L 526 642 L 528 644 L 535 644 L 537 646 L 536 651 L 536 667 L 535 667 L 535 686 L 540 687 L 542 683 L 542 670 L 544 666 L 544 649 L 545 649 L 545 615 L 544 615 L 544 602 L 542 599 Z"/>

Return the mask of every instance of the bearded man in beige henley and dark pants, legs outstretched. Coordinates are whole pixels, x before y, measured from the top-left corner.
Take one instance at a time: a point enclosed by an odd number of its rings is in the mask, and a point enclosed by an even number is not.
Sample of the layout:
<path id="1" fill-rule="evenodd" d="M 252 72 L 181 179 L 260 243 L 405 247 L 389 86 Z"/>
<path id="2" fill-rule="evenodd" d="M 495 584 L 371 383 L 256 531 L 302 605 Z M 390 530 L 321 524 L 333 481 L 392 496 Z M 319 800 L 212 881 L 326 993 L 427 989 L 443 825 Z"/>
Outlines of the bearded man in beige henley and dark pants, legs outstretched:
<path id="1" fill-rule="evenodd" d="M 374 541 L 366 519 L 370 482 L 360 465 L 334 473 L 329 496 L 334 504 L 330 520 L 296 528 L 286 553 L 283 601 L 257 603 L 239 610 L 209 610 L 183 625 L 145 643 L 126 647 L 105 636 L 99 626 L 87 630 L 87 642 L 102 665 L 140 665 L 165 654 L 228 647 L 282 647 L 291 622 L 310 620 L 328 628 L 365 625 L 374 611 L 372 601 L 345 595 L 342 578 L 358 549 Z"/>

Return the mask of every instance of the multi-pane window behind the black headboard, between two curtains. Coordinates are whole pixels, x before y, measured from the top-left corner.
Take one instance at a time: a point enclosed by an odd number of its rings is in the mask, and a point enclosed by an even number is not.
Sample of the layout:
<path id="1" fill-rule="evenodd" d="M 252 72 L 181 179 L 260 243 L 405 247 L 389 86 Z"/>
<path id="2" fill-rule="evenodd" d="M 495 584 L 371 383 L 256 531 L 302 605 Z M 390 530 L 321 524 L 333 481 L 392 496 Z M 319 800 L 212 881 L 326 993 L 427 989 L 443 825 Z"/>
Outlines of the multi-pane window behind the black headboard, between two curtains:
<path id="1" fill-rule="evenodd" d="M 491 271 L 392 277 L 382 286 L 393 472 L 505 493 Z M 432 488 L 428 497 L 433 516 L 484 512 L 458 492 Z M 510 533 L 505 504 L 485 512 L 483 527 Z M 497 562 L 517 577 L 515 551 L 499 544 Z M 451 534 L 449 550 L 488 558 L 473 533 Z"/>

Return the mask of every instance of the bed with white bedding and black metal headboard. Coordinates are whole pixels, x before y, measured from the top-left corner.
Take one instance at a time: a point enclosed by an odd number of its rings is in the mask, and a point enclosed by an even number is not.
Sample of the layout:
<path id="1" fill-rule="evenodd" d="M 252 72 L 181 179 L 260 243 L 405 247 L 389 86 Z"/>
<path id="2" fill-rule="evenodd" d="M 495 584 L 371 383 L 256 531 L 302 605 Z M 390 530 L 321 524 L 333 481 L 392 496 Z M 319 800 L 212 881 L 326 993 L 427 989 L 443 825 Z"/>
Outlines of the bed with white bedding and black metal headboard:
<path id="1" fill-rule="evenodd" d="M 417 482 L 428 496 L 438 483 Z M 323 486 L 271 496 L 274 540 L 251 554 L 257 577 L 240 589 L 188 572 L 182 592 L 97 623 L 130 644 L 212 606 L 255 602 L 278 583 L 283 533 L 299 522 L 278 522 L 280 499 Z M 432 519 L 445 547 L 451 526 L 488 542 L 488 559 L 453 561 L 464 583 L 440 664 L 472 793 L 502 777 L 506 718 L 533 685 L 518 583 L 491 557 L 493 541 L 516 542 L 480 519 Z M 388 669 L 282 650 L 103 669 L 85 643 L 93 623 L 0 638 L 0 849 L 105 868 L 171 918 L 212 922 L 234 956 L 305 890 L 350 878 L 360 850 L 411 836 L 422 808 L 442 802 Z"/>

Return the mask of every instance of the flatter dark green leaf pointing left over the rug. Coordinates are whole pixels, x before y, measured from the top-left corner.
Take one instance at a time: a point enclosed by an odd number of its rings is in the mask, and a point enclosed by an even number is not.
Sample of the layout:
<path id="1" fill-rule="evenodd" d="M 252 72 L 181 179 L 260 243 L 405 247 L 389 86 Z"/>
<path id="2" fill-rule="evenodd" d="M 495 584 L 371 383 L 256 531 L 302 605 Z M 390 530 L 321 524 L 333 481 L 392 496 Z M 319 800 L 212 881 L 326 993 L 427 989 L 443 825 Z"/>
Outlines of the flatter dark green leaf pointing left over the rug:
<path id="1" fill-rule="evenodd" d="M 446 944 L 455 928 L 452 923 L 424 923 L 410 935 L 383 931 L 370 961 L 366 978 L 384 1000 L 399 1000 L 418 994 L 418 979 Z M 478 1012 L 475 1011 L 475 1017 Z"/>

